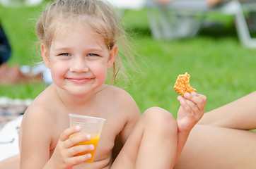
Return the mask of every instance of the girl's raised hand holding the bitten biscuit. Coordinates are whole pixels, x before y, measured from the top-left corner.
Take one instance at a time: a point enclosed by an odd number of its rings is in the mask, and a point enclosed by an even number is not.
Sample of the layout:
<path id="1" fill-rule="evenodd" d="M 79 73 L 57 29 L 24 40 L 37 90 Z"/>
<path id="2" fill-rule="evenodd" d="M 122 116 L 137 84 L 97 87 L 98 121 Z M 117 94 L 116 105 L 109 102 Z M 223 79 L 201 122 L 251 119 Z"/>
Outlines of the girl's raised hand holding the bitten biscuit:
<path id="1" fill-rule="evenodd" d="M 190 132 L 204 115 L 206 96 L 192 92 L 178 96 L 180 108 L 177 115 L 178 132 Z"/>

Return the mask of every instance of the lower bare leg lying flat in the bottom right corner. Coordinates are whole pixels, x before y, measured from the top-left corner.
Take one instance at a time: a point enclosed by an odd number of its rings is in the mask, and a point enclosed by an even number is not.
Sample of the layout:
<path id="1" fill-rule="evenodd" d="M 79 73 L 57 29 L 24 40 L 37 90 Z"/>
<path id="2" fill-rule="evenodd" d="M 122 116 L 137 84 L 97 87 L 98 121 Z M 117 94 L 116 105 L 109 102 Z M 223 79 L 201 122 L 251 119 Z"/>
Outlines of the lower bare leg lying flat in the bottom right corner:
<path id="1" fill-rule="evenodd" d="M 175 169 L 254 169 L 256 133 L 196 125 Z"/>

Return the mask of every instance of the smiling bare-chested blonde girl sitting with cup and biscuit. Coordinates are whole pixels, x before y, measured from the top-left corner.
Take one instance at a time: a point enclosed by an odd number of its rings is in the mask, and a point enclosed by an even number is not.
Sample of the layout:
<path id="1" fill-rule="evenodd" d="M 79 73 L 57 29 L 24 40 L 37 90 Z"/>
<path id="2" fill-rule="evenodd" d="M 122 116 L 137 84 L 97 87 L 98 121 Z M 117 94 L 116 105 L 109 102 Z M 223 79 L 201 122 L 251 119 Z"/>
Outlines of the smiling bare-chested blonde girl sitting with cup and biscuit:
<path id="1" fill-rule="evenodd" d="M 117 39 L 124 37 L 112 8 L 103 1 L 59 0 L 37 22 L 42 58 L 53 83 L 25 112 L 19 145 L 21 168 L 161 168 L 175 165 L 182 147 L 204 113 L 206 97 L 178 97 L 178 120 L 161 108 L 141 115 L 127 92 L 104 84 L 112 68 L 122 68 Z M 71 137 L 69 113 L 107 119 L 95 162 L 83 163 L 95 149 L 91 135 Z"/>

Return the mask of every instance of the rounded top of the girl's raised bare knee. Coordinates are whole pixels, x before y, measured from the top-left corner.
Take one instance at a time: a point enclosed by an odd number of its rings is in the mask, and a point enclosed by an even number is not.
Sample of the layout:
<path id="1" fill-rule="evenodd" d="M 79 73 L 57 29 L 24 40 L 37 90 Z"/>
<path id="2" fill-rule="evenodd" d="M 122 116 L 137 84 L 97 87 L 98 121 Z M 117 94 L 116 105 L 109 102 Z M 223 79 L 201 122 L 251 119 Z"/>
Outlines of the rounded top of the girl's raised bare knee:
<path id="1" fill-rule="evenodd" d="M 163 108 L 152 107 L 147 109 L 141 116 L 146 125 L 153 127 L 158 133 L 178 132 L 177 123 L 173 115 Z"/>

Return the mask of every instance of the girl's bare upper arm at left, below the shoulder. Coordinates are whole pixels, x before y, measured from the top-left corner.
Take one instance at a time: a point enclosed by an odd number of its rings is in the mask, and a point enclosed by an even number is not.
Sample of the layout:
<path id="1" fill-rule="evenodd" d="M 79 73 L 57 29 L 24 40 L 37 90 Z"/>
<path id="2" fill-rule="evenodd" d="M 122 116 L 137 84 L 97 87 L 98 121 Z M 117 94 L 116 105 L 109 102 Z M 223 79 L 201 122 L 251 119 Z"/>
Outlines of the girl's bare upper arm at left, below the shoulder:
<path id="1" fill-rule="evenodd" d="M 50 158 L 50 130 L 45 118 L 40 111 L 28 108 L 23 116 L 19 145 L 21 152 L 22 168 L 43 168 Z"/>

